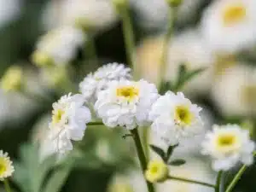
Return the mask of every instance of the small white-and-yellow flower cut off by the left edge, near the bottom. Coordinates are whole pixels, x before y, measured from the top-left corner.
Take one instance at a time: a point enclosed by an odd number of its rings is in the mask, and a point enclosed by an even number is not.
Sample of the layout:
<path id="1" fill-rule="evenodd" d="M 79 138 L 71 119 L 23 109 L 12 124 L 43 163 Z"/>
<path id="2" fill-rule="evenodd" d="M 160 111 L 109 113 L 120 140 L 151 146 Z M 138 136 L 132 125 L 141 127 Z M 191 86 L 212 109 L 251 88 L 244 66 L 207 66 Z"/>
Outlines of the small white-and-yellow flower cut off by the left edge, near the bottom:
<path id="1" fill-rule="evenodd" d="M 13 162 L 9 160 L 8 153 L 3 153 L 3 150 L 0 150 L 0 181 L 12 176 L 13 172 L 15 172 L 15 168 Z"/>

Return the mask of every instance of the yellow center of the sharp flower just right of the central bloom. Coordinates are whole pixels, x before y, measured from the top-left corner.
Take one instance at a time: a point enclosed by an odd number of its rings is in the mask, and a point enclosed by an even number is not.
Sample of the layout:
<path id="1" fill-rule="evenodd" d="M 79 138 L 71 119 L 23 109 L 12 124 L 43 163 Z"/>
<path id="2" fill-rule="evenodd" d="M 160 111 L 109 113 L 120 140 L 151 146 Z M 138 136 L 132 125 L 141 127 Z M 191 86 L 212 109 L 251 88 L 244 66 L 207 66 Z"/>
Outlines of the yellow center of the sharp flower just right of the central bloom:
<path id="1" fill-rule="evenodd" d="M 176 123 L 181 125 L 190 125 L 193 119 L 193 114 L 187 106 L 177 106 L 174 115 Z"/>

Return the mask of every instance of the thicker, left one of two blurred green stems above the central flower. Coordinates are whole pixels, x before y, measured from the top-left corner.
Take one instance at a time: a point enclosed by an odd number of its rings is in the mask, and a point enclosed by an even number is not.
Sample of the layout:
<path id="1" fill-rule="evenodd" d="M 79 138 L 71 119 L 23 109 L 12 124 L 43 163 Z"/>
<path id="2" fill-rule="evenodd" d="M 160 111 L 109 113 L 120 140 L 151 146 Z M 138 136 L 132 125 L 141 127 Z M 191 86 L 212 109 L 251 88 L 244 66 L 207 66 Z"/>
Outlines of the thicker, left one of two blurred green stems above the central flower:
<path id="1" fill-rule="evenodd" d="M 126 51 L 126 57 L 128 64 L 131 66 L 133 69 L 133 74 L 134 78 L 138 78 L 138 68 L 135 63 L 135 58 L 134 58 L 134 49 L 135 49 L 135 38 L 134 38 L 134 32 L 133 32 L 133 27 L 131 24 L 131 15 L 129 13 L 128 6 L 125 5 L 123 7 L 124 9 L 119 10 L 119 14 L 122 18 L 123 21 L 123 34 L 125 38 L 125 51 Z"/>

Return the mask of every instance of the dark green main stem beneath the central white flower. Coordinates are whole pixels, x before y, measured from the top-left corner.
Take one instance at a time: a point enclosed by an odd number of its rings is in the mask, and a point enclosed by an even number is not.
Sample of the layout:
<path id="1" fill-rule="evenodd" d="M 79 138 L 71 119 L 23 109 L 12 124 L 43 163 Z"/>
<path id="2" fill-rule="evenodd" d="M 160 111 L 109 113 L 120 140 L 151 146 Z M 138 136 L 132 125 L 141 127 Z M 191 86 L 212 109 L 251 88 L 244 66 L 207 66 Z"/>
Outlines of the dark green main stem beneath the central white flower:
<path id="1" fill-rule="evenodd" d="M 141 165 L 141 168 L 142 168 L 142 171 L 144 174 L 144 172 L 147 170 L 148 162 L 147 162 L 146 156 L 143 152 L 143 145 L 142 145 L 141 139 L 138 135 L 137 128 L 131 130 L 131 134 L 133 136 L 133 139 L 134 139 L 134 142 L 135 142 L 135 145 L 137 148 L 137 156 L 140 161 L 140 165 Z M 148 187 L 148 192 L 154 192 L 154 185 L 152 183 L 149 183 L 148 181 L 146 181 L 146 183 L 147 183 L 147 187 Z"/>

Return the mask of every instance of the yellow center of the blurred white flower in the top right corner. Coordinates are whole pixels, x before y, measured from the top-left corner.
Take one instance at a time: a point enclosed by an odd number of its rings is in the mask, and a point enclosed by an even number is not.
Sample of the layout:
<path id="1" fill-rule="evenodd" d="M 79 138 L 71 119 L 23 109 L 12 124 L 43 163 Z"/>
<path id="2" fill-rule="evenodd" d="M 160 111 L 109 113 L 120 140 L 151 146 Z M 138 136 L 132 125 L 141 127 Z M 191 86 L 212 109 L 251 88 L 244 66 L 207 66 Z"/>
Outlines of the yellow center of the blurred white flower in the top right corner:
<path id="1" fill-rule="evenodd" d="M 245 19 L 247 9 L 242 3 L 227 6 L 223 11 L 224 26 L 234 25 Z"/>

